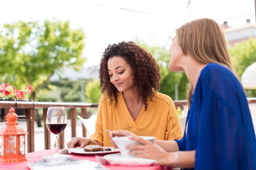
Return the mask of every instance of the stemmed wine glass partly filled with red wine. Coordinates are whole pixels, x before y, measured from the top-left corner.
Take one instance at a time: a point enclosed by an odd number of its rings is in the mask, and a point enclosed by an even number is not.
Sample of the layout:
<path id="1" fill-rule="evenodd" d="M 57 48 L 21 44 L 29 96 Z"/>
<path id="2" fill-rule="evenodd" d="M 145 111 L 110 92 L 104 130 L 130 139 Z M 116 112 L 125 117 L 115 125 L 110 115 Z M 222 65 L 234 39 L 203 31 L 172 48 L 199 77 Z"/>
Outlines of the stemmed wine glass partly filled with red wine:
<path id="1" fill-rule="evenodd" d="M 47 129 L 56 135 L 56 151 L 55 156 L 61 156 L 58 153 L 58 135 L 62 133 L 67 126 L 67 115 L 65 107 L 48 107 L 46 116 Z"/>

